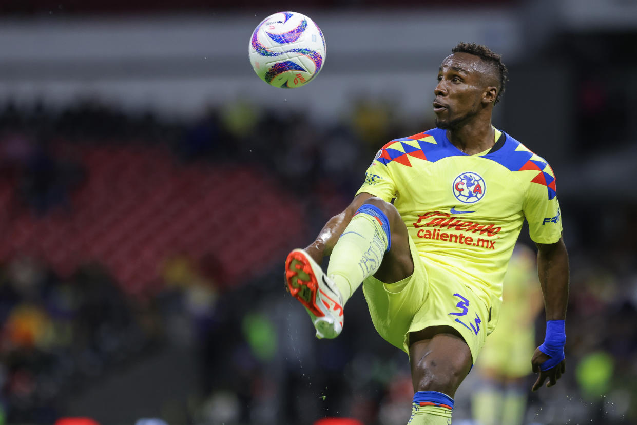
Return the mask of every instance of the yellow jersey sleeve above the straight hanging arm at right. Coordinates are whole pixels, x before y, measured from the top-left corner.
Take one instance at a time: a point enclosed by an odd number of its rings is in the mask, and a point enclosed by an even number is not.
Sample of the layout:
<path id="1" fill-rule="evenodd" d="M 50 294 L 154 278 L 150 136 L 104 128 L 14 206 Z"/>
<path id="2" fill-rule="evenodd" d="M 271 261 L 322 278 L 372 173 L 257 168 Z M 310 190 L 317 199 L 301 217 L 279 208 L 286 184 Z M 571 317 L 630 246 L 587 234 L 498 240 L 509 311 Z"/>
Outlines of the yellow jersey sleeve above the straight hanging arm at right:
<path id="1" fill-rule="evenodd" d="M 531 182 L 523 209 L 529 222 L 531 240 L 537 243 L 559 241 L 562 236 L 562 215 L 554 180 L 550 186 L 542 182 Z"/>

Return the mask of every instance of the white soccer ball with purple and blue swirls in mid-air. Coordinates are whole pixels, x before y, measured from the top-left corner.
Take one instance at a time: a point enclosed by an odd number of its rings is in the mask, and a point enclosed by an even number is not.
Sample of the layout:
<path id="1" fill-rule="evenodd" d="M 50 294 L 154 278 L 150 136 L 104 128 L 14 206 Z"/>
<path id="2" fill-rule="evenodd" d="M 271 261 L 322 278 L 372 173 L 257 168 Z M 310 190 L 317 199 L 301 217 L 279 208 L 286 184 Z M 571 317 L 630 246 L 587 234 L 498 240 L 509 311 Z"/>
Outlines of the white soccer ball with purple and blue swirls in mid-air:
<path id="1" fill-rule="evenodd" d="M 306 85 L 325 62 L 323 33 L 296 12 L 278 12 L 257 25 L 250 38 L 250 63 L 269 85 L 292 89 Z"/>

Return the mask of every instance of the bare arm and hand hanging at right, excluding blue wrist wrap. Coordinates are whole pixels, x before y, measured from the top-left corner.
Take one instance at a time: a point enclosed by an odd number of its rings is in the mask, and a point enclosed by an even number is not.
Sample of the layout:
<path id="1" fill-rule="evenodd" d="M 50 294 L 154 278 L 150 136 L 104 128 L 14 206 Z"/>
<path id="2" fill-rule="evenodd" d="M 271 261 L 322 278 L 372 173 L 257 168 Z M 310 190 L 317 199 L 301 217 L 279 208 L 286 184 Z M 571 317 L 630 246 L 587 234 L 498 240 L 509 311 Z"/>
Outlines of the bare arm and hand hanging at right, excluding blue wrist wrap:
<path id="1" fill-rule="evenodd" d="M 564 319 L 566 319 L 569 286 L 568 253 L 566 252 L 566 246 L 561 238 L 556 243 L 538 243 L 536 245 L 538 247 L 538 277 L 540 278 L 540 285 L 544 295 L 547 323 L 561 324 L 563 327 Z M 545 340 L 545 344 L 547 344 L 547 340 Z M 552 387 L 566 370 L 566 361 L 563 358 L 559 363 L 555 364 L 555 366 L 547 370 L 542 370 L 543 368 L 546 369 L 543 365 L 546 366 L 547 363 L 550 364 L 549 362 L 552 359 L 552 356 L 544 352 L 546 349 L 541 350 L 545 344 L 535 350 L 533 359 L 531 359 L 533 372 L 539 373 L 538 379 L 535 384 L 533 384 L 532 391 L 537 391 L 547 379 L 547 387 Z M 554 354 L 554 356 L 555 355 L 559 356 L 559 347 L 557 348 L 557 354 Z M 561 356 L 563 357 L 563 352 Z"/>

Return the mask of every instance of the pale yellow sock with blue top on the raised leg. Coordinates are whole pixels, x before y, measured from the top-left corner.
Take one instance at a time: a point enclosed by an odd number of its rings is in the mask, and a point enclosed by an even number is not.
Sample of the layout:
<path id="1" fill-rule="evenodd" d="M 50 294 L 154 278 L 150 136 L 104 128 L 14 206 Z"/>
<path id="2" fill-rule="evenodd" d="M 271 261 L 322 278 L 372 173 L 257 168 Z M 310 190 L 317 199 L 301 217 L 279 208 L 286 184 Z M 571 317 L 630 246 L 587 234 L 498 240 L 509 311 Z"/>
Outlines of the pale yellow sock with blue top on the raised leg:
<path id="1" fill-rule="evenodd" d="M 343 305 L 362 281 L 373 275 L 389 249 L 389 220 L 373 205 L 359 208 L 332 250 L 327 276 L 341 292 Z"/>

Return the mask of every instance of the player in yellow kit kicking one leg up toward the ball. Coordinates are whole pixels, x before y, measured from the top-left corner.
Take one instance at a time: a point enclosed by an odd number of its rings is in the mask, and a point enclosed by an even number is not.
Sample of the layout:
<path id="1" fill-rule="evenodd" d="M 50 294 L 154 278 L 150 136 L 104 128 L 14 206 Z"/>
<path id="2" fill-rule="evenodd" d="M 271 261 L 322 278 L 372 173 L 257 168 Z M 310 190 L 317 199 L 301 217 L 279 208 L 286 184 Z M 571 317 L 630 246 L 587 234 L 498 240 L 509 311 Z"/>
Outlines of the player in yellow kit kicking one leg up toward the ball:
<path id="1" fill-rule="evenodd" d="M 538 247 L 547 316 L 531 359 L 533 391 L 564 372 L 568 254 L 555 177 L 547 161 L 491 124 L 506 77 L 488 48 L 454 47 L 438 71 L 436 128 L 387 143 L 352 203 L 285 261 L 287 288 L 318 338 L 339 335 L 343 308 L 362 284 L 376 330 L 409 355 L 411 425 L 451 423 L 455 391 L 496 326 L 524 219 Z"/>

